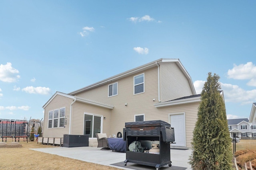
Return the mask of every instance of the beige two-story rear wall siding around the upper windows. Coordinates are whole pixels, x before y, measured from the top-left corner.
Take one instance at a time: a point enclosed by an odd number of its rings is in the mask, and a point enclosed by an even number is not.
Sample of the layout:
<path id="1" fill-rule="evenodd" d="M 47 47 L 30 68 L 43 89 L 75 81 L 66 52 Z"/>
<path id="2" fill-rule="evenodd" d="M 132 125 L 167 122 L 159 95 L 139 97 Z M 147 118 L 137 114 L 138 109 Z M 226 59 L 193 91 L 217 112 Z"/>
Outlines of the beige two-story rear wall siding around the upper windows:
<path id="1" fill-rule="evenodd" d="M 134 95 L 134 76 L 142 73 L 144 73 L 144 93 Z M 112 83 L 115 82 L 110 82 Z M 153 99 L 158 101 L 158 68 L 156 66 L 118 80 L 118 95 L 116 96 L 108 97 L 108 84 L 77 94 L 77 96 L 114 106 L 111 110 L 110 134 L 122 133 L 125 122 L 134 121 L 134 115 L 154 114 L 157 111 L 153 105 Z M 125 106 L 125 103 L 128 106 Z M 146 116 L 145 120 L 148 120 Z"/>

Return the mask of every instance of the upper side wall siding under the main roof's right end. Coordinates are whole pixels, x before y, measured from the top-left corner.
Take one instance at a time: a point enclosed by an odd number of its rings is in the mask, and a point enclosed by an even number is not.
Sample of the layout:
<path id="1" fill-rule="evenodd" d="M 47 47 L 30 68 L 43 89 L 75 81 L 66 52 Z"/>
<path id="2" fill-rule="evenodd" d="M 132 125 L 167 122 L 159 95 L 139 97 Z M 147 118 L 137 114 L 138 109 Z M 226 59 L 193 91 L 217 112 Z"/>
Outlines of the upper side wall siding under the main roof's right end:
<path id="1" fill-rule="evenodd" d="M 161 101 L 193 95 L 188 79 L 176 63 L 161 63 Z"/>

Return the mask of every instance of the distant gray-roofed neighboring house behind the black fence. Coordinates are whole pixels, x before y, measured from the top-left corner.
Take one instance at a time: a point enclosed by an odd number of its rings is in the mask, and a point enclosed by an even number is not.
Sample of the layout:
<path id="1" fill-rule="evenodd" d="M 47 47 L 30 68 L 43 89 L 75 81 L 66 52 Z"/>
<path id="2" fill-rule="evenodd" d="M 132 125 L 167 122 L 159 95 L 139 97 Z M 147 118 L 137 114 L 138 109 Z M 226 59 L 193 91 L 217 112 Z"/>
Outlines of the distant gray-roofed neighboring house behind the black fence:
<path id="1" fill-rule="evenodd" d="M 251 127 L 247 118 L 243 119 L 228 119 L 228 130 L 231 133 L 242 133 L 238 137 L 249 137 L 247 133 L 251 133 Z"/>

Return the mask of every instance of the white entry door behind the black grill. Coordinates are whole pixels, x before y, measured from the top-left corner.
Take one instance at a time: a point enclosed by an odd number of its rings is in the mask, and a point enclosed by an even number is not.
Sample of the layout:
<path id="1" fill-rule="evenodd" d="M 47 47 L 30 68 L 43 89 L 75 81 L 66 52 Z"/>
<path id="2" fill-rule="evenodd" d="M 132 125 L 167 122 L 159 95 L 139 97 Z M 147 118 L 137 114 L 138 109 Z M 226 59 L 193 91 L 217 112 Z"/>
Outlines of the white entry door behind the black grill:
<path id="1" fill-rule="evenodd" d="M 174 127 L 175 143 L 171 146 L 185 147 L 184 114 L 170 115 L 171 127 Z"/>

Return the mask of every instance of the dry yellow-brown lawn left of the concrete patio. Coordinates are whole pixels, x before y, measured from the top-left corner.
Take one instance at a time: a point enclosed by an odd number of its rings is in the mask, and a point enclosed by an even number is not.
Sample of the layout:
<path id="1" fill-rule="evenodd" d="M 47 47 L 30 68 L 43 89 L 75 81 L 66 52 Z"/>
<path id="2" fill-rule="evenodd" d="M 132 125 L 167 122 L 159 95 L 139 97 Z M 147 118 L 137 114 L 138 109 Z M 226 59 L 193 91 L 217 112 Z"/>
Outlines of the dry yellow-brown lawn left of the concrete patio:
<path id="1" fill-rule="evenodd" d="M 0 148 L 0 169 L 33 169 L 33 170 L 62 170 L 62 169 L 92 169 L 118 170 L 118 168 L 84 162 L 54 154 L 30 150 L 32 148 L 48 148 L 52 145 L 37 144 L 37 142 L 20 142 L 20 148 Z"/>

